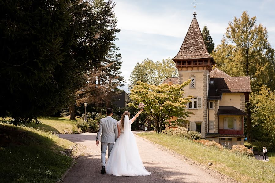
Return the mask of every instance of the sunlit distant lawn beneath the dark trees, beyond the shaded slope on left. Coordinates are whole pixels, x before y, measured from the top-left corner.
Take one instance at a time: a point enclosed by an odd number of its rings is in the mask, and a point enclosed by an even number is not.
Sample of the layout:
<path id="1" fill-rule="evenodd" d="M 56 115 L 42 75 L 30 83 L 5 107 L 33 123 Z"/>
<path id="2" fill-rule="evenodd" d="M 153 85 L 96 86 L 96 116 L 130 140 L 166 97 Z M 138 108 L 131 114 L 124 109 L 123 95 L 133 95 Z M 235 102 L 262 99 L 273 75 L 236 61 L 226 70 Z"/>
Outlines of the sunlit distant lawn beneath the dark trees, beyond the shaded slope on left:
<path id="1" fill-rule="evenodd" d="M 43 129 L 55 133 L 64 133 L 64 130 L 71 130 L 74 125 L 76 125 L 76 121 L 70 120 L 69 117 L 39 117 L 38 118 L 42 123 L 35 124 L 30 123 L 24 126 L 33 127 L 35 129 Z M 6 118 L 2 120 L 2 122 L 9 122 L 10 118 Z M 78 119 L 80 120 L 80 119 Z"/>

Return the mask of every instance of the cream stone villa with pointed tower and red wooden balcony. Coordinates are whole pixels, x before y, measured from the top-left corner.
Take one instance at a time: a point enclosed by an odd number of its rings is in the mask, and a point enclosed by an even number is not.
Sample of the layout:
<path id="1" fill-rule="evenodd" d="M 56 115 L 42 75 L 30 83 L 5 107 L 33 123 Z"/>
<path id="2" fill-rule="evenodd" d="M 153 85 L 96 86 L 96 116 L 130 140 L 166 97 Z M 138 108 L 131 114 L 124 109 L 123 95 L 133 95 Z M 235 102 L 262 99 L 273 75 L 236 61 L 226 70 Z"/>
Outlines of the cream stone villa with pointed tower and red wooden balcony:
<path id="1" fill-rule="evenodd" d="M 231 77 L 218 68 L 207 52 L 196 18 L 193 18 L 180 51 L 172 59 L 179 72 L 178 78 L 167 78 L 163 83 L 181 84 L 184 97 L 193 96 L 186 110 L 193 112 L 184 126 L 198 131 L 203 138 L 224 146 L 244 144 L 245 102 L 249 101 L 250 78 Z M 177 120 L 171 117 L 171 120 Z M 177 128 L 177 127 L 167 127 Z"/>

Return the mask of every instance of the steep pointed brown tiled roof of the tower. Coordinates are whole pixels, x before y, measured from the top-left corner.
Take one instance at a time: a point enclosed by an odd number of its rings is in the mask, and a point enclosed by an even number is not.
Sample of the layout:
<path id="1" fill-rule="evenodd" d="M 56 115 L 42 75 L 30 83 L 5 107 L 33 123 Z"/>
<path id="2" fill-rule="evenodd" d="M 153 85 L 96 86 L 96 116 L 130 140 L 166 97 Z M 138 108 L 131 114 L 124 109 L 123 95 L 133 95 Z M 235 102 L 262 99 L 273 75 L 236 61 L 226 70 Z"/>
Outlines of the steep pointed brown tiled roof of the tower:
<path id="1" fill-rule="evenodd" d="M 197 19 L 194 18 L 181 45 L 180 51 L 172 60 L 201 58 L 213 59 L 206 49 Z"/>

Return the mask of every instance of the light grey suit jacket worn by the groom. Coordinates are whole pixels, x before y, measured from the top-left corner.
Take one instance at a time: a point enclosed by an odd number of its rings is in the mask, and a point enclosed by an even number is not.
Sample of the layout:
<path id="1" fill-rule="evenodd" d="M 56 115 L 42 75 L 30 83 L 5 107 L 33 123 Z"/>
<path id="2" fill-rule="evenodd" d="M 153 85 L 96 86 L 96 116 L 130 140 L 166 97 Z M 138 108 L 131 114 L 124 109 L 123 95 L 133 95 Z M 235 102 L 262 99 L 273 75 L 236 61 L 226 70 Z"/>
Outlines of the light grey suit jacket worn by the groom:
<path id="1" fill-rule="evenodd" d="M 101 132 L 100 142 L 114 143 L 118 136 L 117 120 L 110 116 L 100 119 L 96 140 L 99 139 Z"/>

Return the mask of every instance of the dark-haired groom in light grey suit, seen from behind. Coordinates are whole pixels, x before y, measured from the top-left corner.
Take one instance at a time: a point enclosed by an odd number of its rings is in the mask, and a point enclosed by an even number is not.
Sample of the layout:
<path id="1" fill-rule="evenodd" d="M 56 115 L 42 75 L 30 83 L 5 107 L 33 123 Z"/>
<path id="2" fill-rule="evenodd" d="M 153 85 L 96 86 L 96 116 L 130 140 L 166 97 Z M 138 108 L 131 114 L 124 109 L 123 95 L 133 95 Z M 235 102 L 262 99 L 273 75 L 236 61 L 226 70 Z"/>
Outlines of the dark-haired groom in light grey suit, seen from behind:
<path id="1" fill-rule="evenodd" d="M 111 150 L 113 148 L 114 142 L 117 140 L 118 130 L 117 130 L 117 120 L 113 119 L 111 116 L 113 115 L 113 109 L 109 108 L 106 112 L 107 117 L 100 119 L 100 124 L 98 128 L 98 132 L 96 135 L 95 145 L 99 144 L 99 137 L 101 135 L 101 174 L 105 173 L 105 156 L 106 150 L 108 147 L 108 158 L 110 156 Z"/>

